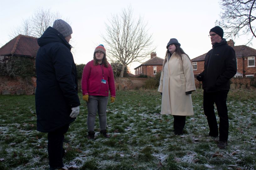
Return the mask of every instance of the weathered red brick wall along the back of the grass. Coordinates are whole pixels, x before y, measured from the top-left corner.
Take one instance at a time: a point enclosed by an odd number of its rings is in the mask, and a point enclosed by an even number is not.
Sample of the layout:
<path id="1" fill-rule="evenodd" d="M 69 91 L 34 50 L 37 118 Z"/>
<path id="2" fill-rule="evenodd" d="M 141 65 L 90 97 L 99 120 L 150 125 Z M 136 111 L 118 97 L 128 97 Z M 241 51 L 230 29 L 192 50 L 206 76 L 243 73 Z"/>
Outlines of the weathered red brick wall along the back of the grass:
<path id="1" fill-rule="evenodd" d="M 142 88 L 148 78 L 115 78 L 116 90 L 136 90 Z M 202 83 L 195 79 L 196 88 L 202 88 Z M 256 87 L 256 78 L 232 78 L 230 88 Z M 35 94 L 36 78 L 0 77 L 0 94 Z M 78 81 L 81 92 L 81 80 Z"/>

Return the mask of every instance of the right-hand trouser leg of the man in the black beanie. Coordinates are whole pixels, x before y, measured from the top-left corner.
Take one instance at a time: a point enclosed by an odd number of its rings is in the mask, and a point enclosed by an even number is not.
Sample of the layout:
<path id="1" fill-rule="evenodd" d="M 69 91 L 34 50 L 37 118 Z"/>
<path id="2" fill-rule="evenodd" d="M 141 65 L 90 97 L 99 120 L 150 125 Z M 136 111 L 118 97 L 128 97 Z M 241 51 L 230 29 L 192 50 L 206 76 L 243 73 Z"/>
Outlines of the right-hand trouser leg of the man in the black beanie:
<path id="1" fill-rule="evenodd" d="M 227 93 L 218 92 L 216 93 L 215 100 L 218 115 L 220 117 L 219 133 L 220 141 L 227 142 L 228 138 L 228 114 L 227 114 Z"/>

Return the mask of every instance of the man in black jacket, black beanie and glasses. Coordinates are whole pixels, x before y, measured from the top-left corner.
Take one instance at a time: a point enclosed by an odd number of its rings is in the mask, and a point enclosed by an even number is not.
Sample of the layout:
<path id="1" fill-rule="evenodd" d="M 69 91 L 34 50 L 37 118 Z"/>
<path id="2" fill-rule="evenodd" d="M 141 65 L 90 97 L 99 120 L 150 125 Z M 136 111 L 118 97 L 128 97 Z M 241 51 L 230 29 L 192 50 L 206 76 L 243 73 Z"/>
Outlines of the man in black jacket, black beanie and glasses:
<path id="1" fill-rule="evenodd" d="M 237 60 L 234 49 L 227 45 L 223 38 L 223 29 L 213 27 L 210 30 L 212 49 L 205 56 L 204 71 L 197 75 L 197 80 L 202 81 L 204 89 L 204 113 L 210 128 L 209 136 L 218 137 L 218 124 L 214 112 L 214 103 L 220 117 L 218 147 L 227 146 L 228 139 L 228 114 L 227 93 L 230 88 L 229 80 L 237 72 Z"/>

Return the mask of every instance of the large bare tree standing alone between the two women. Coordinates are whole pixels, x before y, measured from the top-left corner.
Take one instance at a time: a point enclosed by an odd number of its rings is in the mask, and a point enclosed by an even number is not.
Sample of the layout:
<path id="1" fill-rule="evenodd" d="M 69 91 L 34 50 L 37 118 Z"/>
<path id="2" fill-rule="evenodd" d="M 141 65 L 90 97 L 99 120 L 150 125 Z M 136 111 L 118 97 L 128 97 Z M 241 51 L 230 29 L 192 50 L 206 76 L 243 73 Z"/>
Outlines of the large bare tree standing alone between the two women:
<path id="1" fill-rule="evenodd" d="M 106 42 L 108 56 L 112 62 L 120 61 L 123 77 L 125 67 L 132 62 L 140 62 L 145 59 L 155 47 L 152 46 L 152 34 L 148 34 L 147 23 L 143 18 L 137 20 L 132 16 L 131 6 L 123 9 L 120 14 L 112 15 L 109 24 L 106 25 L 106 35 L 102 35 Z"/>

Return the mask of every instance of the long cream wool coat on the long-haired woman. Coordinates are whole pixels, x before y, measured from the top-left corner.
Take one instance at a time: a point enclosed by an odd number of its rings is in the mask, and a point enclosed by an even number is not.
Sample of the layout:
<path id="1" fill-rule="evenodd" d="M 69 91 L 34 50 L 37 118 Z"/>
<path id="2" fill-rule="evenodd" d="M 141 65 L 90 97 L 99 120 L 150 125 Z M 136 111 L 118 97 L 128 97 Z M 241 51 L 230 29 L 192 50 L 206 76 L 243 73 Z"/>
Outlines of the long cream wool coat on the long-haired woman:
<path id="1" fill-rule="evenodd" d="M 195 78 L 189 58 L 182 54 L 180 57 L 173 53 L 164 65 L 161 73 L 158 92 L 163 93 L 161 114 L 180 116 L 193 115 L 191 94 L 185 92 L 195 91 Z"/>

